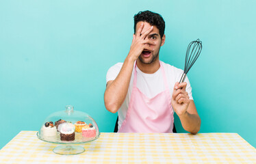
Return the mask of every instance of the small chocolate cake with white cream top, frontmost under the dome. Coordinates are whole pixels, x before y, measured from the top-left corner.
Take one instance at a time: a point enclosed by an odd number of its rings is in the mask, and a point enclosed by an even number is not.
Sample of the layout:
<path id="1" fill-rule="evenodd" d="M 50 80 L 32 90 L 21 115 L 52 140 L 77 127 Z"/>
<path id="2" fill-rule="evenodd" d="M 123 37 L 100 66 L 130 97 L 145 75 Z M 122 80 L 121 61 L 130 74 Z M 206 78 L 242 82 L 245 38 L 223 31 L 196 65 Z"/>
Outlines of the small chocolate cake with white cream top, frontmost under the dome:
<path id="1" fill-rule="evenodd" d="M 61 141 L 74 141 L 75 140 L 75 126 L 69 122 L 62 123 L 60 128 Z"/>

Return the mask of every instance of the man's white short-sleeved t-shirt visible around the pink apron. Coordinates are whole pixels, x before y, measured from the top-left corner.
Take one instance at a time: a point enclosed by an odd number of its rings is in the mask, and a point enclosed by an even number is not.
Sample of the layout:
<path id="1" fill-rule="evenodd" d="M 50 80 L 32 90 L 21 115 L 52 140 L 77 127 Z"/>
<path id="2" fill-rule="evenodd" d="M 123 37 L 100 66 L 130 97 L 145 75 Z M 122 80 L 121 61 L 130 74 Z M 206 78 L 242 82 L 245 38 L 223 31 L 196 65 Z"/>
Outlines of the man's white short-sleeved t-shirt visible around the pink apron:
<path id="1" fill-rule="evenodd" d="M 166 64 L 163 61 L 160 61 L 160 62 L 164 67 L 168 88 L 170 89 L 170 96 L 172 96 L 173 87 L 175 83 L 179 82 L 179 80 L 181 79 L 183 70 L 176 68 L 175 66 L 170 66 L 170 64 Z M 117 63 L 107 71 L 107 82 L 116 79 L 122 66 L 123 66 L 123 63 Z M 137 70 L 137 87 L 145 96 L 149 98 L 153 98 L 155 95 L 165 90 L 164 77 L 162 75 L 161 68 L 159 68 L 157 72 L 153 74 L 146 74 L 142 72 L 138 67 L 136 67 L 136 70 Z M 187 83 L 186 92 L 188 92 L 188 96 L 190 96 L 190 100 L 193 100 L 192 92 L 191 92 L 192 88 L 190 86 L 190 81 L 188 80 L 188 77 L 185 78 L 185 82 Z M 125 115 L 127 113 L 130 98 L 131 98 L 132 88 L 133 88 L 133 72 L 131 74 L 131 81 L 129 84 L 127 96 L 125 98 L 125 101 L 123 102 L 123 105 L 121 105 L 120 109 L 118 110 L 118 129 L 120 128 L 123 121 L 125 120 Z"/>

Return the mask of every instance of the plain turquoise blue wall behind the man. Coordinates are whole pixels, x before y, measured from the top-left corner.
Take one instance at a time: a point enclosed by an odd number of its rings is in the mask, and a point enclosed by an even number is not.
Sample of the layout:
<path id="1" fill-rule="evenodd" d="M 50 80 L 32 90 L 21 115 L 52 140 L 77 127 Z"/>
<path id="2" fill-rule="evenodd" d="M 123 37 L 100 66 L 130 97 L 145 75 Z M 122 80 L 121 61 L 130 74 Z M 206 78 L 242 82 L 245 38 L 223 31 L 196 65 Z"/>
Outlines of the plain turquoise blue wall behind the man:
<path id="1" fill-rule="evenodd" d="M 133 15 L 141 10 L 166 21 L 162 61 L 183 68 L 188 43 L 203 41 L 188 74 L 200 133 L 238 133 L 256 147 L 255 7 L 242 0 L 0 1 L 0 148 L 19 131 L 38 131 L 65 105 L 112 132 L 105 75 L 129 52 Z"/>

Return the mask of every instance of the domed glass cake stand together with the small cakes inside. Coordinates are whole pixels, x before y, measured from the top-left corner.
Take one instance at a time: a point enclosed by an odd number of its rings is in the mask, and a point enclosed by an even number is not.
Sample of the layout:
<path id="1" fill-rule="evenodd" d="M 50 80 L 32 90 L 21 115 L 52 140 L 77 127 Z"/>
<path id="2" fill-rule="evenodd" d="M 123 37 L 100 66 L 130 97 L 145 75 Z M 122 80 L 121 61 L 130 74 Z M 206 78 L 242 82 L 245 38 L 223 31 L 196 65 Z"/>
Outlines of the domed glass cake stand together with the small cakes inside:
<path id="1" fill-rule="evenodd" d="M 99 128 L 95 120 L 82 111 L 75 111 L 71 105 L 65 111 L 57 111 L 42 122 L 37 136 L 42 141 L 60 143 L 53 149 L 57 154 L 79 154 L 84 152 L 81 146 L 71 144 L 87 143 L 98 139 Z"/>

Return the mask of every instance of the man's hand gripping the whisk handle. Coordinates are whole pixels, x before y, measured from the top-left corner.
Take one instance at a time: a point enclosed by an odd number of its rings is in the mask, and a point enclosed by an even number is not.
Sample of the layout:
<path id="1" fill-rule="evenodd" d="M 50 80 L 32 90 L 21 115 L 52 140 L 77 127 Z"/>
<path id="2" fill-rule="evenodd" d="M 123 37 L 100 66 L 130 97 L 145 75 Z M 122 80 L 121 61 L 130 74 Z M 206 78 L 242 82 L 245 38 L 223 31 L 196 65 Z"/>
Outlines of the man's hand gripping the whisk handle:
<path id="1" fill-rule="evenodd" d="M 175 87 L 172 92 L 172 108 L 177 115 L 181 116 L 187 112 L 188 105 L 190 104 L 190 96 L 188 92 L 185 92 L 187 83 L 175 83 Z"/>

